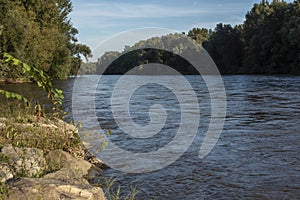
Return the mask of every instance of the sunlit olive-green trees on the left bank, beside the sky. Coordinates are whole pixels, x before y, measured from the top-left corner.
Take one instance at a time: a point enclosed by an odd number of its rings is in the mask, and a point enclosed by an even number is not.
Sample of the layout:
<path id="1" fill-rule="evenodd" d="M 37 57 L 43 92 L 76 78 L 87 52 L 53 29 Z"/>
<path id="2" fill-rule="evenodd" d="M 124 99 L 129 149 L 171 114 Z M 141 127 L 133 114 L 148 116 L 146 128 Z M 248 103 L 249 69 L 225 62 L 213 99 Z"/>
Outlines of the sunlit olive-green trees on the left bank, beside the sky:
<path id="1" fill-rule="evenodd" d="M 4 53 L 52 79 L 76 75 L 81 56 L 89 57 L 91 50 L 78 43 L 78 30 L 68 17 L 71 11 L 71 0 L 0 0 L 0 78 L 24 76 L 20 69 L 4 62 Z"/>

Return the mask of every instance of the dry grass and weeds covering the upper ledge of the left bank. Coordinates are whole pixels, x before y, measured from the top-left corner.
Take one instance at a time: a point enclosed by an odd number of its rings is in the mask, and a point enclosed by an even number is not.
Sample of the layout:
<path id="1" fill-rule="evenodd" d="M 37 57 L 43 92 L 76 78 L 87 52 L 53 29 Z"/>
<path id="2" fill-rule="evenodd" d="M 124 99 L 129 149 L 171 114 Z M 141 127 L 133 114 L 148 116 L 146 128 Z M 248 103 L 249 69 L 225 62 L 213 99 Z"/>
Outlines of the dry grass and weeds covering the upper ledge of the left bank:
<path id="1" fill-rule="evenodd" d="M 5 144 L 38 148 L 45 151 L 60 149 L 74 153 L 83 147 L 75 130 L 70 130 L 57 118 L 37 114 L 36 106 L 7 101 L 0 105 L 0 148 Z M 3 127 L 4 125 L 4 127 Z"/>

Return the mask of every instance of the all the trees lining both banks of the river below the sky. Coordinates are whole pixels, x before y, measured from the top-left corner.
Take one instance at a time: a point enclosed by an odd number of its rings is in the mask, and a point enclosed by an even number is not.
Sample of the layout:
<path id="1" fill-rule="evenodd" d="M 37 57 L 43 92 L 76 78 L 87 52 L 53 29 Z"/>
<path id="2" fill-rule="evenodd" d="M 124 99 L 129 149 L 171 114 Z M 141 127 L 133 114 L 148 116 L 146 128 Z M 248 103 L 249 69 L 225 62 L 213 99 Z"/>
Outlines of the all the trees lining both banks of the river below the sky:
<path id="1" fill-rule="evenodd" d="M 0 79 L 26 80 L 22 71 L 4 62 L 9 53 L 47 73 L 51 79 L 80 74 L 123 74 L 132 66 L 161 63 L 182 74 L 197 74 L 176 53 L 186 51 L 180 40 L 184 34 L 201 44 L 222 74 L 300 74 L 300 0 L 263 0 L 245 15 L 243 24 L 219 23 L 214 30 L 193 28 L 125 46 L 122 52 L 106 52 L 97 62 L 83 62 L 91 56 L 88 46 L 78 43 L 78 30 L 69 18 L 71 0 L 0 1 Z M 200 20 L 200 19 L 199 19 Z M 173 49 L 140 49 L 144 44 Z M 115 59 L 115 60 L 114 60 Z M 113 63 L 108 63 L 114 60 Z"/>

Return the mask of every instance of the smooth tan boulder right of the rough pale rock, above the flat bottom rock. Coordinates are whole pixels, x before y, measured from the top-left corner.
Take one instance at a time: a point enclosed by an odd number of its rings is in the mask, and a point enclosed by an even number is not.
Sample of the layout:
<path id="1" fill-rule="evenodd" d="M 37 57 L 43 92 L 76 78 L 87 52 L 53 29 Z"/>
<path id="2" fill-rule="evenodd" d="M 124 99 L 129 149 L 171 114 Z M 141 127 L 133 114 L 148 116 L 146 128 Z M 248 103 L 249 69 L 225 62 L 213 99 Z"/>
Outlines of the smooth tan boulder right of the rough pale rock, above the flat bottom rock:
<path id="1" fill-rule="evenodd" d="M 67 168 L 78 174 L 78 176 L 88 175 L 92 164 L 83 159 L 75 158 L 67 152 L 61 150 L 50 151 L 46 155 L 46 162 L 50 170 Z"/>

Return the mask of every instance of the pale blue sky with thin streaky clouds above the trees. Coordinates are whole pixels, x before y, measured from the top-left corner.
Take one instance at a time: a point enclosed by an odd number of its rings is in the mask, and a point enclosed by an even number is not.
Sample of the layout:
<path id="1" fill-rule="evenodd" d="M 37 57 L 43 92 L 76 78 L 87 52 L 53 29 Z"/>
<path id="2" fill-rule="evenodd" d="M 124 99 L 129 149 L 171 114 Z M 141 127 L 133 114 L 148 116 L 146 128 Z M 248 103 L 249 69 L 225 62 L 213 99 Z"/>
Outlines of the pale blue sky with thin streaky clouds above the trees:
<path id="1" fill-rule="evenodd" d="M 240 24 L 259 0 L 73 0 L 70 17 L 80 43 L 92 49 L 122 31 L 161 27 L 187 32 L 214 28 L 219 22 Z"/>

